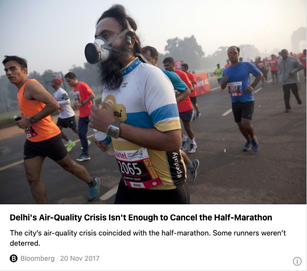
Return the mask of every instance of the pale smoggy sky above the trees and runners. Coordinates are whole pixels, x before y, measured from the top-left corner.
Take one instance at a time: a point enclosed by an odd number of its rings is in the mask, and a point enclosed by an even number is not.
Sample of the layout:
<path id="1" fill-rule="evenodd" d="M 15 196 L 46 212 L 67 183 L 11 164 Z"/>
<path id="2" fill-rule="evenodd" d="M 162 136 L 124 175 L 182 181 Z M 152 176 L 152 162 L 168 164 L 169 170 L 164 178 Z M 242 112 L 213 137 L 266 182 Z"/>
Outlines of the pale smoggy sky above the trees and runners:
<path id="1" fill-rule="evenodd" d="M 274 48 L 290 52 L 292 32 L 307 26 L 306 0 L 0 0 L 1 61 L 5 54 L 19 55 L 29 72 L 40 73 L 83 66 L 96 20 L 116 3 L 137 21 L 143 46 L 160 53 L 168 38 L 191 35 L 205 56 L 239 44 L 267 54 Z"/>

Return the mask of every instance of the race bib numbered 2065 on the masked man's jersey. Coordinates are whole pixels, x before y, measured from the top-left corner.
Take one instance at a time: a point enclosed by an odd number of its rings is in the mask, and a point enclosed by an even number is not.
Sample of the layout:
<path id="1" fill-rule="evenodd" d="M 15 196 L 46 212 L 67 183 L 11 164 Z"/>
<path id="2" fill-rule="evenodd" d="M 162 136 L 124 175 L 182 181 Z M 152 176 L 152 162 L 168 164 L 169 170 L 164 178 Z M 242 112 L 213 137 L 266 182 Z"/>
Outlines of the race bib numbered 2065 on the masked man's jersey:
<path id="1" fill-rule="evenodd" d="M 114 149 L 114 154 L 126 186 L 150 189 L 162 184 L 146 148 L 127 151 Z"/>

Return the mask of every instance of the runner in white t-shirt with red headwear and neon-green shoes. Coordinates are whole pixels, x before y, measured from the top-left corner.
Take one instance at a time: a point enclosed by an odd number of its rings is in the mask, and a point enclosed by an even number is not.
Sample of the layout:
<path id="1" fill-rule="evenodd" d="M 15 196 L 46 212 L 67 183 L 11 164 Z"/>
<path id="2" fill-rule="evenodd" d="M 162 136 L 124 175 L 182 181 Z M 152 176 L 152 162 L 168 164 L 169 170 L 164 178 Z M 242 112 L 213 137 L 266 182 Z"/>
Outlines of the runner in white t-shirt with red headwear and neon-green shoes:
<path id="1" fill-rule="evenodd" d="M 76 145 L 71 141 L 68 136 L 62 131 L 63 128 L 70 127 L 72 131 L 78 134 L 78 128 L 76 120 L 74 117 L 74 111 L 71 106 L 71 100 L 65 90 L 61 88 L 62 79 L 59 77 L 54 77 L 51 81 L 51 86 L 54 88 L 54 99 L 58 102 L 59 108 L 59 117 L 56 122 L 56 126 L 62 132 L 62 138 L 68 143 L 67 151 L 70 152 L 71 149 Z"/>

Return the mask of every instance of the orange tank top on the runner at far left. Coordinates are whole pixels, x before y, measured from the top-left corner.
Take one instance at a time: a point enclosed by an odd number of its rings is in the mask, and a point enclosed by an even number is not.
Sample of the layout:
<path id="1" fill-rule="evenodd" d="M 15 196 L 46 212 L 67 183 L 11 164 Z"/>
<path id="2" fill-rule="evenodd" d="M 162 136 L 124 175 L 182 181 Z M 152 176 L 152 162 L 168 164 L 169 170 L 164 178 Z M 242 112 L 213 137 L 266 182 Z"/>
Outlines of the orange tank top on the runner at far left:
<path id="1" fill-rule="evenodd" d="M 23 96 L 25 86 L 29 82 L 36 82 L 37 84 L 39 84 L 36 79 L 29 79 L 17 92 L 17 101 L 20 113 L 22 116 L 25 117 L 34 116 L 46 106 L 40 101 L 28 100 Z M 34 129 L 36 135 L 33 137 L 27 137 L 27 139 L 32 142 L 39 142 L 50 139 L 61 132 L 60 129 L 51 120 L 50 115 L 32 124 L 32 128 Z"/>

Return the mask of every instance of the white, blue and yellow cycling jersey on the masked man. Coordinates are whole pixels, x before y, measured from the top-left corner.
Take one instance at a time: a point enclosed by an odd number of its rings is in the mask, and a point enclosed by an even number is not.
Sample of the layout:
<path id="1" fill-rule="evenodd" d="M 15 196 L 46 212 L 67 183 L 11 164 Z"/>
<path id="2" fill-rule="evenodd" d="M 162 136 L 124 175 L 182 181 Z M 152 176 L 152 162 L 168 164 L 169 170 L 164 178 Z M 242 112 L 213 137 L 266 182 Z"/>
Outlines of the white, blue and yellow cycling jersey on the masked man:
<path id="1" fill-rule="evenodd" d="M 122 74 L 123 82 L 117 90 L 104 89 L 102 93 L 102 101 L 113 109 L 116 120 L 161 132 L 181 129 L 174 87 L 159 68 L 135 58 Z M 112 139 L 112 144 L 127 186 L 174 189 L 184 183 L 180 150 L 151 150 L 122 138 Z"/>

